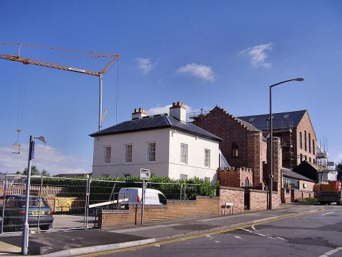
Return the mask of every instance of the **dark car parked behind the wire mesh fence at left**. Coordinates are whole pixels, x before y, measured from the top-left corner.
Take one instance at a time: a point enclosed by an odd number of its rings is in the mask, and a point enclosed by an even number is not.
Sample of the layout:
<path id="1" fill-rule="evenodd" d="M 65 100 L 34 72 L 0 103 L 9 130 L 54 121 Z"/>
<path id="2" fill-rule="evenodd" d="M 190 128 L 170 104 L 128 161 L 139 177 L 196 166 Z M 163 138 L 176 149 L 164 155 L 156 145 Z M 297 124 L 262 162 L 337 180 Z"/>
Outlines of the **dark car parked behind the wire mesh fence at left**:
<path id="1" fill-rule="evenodd" d="M 26 195 L 2 195 L 0 204 L 3 231 L 21 230 L 25 217 Z M 38 223 L 41 230 L 52 228 L 53 211 L 44 198 L 30 195 L 28 223 L 29 228 L 38 228 Z"/>

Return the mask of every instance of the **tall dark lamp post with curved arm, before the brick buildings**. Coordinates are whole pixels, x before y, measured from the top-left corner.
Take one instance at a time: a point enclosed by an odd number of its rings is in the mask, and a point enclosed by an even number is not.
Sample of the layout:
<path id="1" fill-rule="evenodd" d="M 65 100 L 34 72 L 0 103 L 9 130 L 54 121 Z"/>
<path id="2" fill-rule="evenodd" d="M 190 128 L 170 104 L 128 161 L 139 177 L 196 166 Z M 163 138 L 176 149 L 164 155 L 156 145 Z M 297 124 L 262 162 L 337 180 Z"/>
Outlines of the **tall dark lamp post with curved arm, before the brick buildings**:
<path id="1" fill-rule="evenodd" d="M 269 197 L 268 197 L 268 208 L 272 210 L 272 191 L 273 191 L 273 122 L 272 122 L 272 88 L 274 86 L 278 86 L 280 84 L 291 82 L 291 81 L 298 81 L 302 82 L 304 79 L 302 77 L 298 77 L 296 79 L 288 79 L 282 82 L 278 82 L 269 86 Z"/>

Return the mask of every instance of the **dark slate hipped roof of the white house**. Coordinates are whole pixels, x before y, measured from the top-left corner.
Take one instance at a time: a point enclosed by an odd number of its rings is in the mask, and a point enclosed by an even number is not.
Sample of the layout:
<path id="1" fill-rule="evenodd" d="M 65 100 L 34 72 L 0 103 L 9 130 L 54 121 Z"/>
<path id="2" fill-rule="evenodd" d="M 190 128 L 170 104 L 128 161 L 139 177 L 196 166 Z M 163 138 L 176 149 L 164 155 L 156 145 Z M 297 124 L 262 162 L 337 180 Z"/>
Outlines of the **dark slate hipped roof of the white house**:
<path id="1" fill-rule="evenodd" d="M 100 132 L 95 132 L 90 134 L 90 136 L 105 136 L 111 134 L 123 134 L 130 132 L 138 132 L 144 130 L 159 130 L 162 128 L 174 128 L 174 130 L 181 130 L 189 134 L 194 134 L 196 136 L 202 136 L 204 138 L 209 138 L 216 141 L 222 141 L 222 139 L 214 134 L 202 130 L 200 127 L 192 123 L 185 123 L 179 121 L 174 117 L 168 117 L 167 114 L 155 115 L 153 117 L 143 117 L 142 119 L 133 119 L 131 121 L 124 121 L 117 125 L 107 127 L 105 130 Z"/>

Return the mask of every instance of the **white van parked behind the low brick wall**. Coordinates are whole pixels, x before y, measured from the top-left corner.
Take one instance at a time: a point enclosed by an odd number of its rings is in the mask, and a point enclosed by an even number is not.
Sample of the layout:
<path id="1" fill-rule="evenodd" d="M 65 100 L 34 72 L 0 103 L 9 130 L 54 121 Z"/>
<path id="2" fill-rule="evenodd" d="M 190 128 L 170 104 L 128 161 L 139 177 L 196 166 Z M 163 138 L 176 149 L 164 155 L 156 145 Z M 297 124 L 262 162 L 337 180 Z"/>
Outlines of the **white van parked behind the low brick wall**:
<path id="1" fill-rule="evenodd" d="M 119 191 L 118 202 L 119 204 L 141 204 L 142 201 L 142 188 L 127 187 L 121 188 Z M 156 189 L 146 188 L 145 191 L 145 204 L 166 204 L 166 197 L 161 191 Z"/>

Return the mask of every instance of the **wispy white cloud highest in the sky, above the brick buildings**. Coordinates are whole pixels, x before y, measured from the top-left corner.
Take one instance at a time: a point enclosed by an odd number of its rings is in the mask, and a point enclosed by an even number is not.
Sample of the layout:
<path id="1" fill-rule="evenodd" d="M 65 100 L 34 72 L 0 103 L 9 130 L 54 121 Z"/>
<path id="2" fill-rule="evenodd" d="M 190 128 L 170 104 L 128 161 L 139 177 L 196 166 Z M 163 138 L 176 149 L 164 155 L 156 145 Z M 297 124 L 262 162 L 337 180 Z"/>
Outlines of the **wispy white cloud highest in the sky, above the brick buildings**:
<path id="1" fill-rule="evenodd" d="M 269 68 L 272 66 L 272 63 L 265 62 L 267 58 L 267 51 L 271 51 L 273 49 L 272 43 L 268 43 L 265 45 L 256 45 L 254 47 L 249 47 L 248 49 L 244 49 L 239 54 L 247 56 L 250 58 L 250 64 L 254 67 L 263 66 Z"/>

